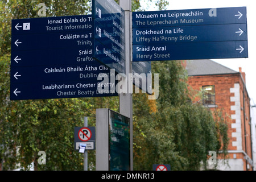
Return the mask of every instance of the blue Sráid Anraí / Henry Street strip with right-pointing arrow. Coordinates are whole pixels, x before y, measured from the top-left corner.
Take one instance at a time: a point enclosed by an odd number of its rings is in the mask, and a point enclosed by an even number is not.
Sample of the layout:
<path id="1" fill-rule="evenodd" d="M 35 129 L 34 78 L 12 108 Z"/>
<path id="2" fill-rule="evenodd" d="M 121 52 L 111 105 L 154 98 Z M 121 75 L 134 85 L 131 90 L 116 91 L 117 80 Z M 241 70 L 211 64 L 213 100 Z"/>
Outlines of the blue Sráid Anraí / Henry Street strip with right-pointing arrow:
<path id="1" fill-rule="evenodd" d="M 247 41 L 134 45 L 133 61 L 248 57 Z"/>

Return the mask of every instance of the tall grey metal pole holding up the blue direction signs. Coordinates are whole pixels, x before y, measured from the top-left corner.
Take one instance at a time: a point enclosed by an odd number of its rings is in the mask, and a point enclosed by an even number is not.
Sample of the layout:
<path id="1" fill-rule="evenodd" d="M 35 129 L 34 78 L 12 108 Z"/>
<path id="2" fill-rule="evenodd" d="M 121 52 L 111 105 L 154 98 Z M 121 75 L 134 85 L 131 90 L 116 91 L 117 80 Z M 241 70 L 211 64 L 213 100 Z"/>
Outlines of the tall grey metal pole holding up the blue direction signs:
<path id="1" fill-rule="evenodd" d="M 120 0 L 119 5 L 125 10 L 125 70 L 127 93 L 119 94 L 119 113 L 130 118 L 130 166 L 133 171 L 133 97 L 129 93 L 129 73 L 131 73 L 131 0 Z"/>

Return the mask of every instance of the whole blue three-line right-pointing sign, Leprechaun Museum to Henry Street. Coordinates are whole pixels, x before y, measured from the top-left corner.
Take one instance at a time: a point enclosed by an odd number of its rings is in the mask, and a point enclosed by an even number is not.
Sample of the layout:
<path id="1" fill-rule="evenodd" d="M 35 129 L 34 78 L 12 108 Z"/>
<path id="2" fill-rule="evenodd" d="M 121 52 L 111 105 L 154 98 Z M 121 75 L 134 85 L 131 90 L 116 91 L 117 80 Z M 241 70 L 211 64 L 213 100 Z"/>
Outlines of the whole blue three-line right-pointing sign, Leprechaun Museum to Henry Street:
<path id="1" fill-rule="evenodd" d="M 133 13 L 133 61 L 241 57 L 246 7 Z"/>

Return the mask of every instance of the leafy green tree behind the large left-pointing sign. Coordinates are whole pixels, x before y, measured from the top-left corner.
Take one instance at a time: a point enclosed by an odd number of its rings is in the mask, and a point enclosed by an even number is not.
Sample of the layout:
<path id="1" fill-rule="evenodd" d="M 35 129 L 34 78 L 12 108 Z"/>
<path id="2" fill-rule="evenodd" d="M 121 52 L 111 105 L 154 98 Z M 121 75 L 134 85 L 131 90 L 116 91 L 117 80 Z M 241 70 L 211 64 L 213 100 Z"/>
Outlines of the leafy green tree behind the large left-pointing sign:
<path id="1" fill-rule="evenodd" d="M 70 98 L 54 100 L 10 101 L 11 19 L 38 18 L 42 1 L 0 2 L 0 158 L 3 169 L 81 170 L 82 154 L 74 151 L 73 130 L 83 126 L 84 116 L 95 117 L 101 105 L 117 101 L 108 98 Z M 90 11 L 90 1 L 44 1 L 47 16 L 80 15 Z M 89 119 L 89 125 L 95 121 Z M 46 151 L 47 165 L 38 165 L 38 152 Z M 89 164 L 95 155 L 89 152 Z M 2 160 L 1 160 L 2 161 Z M 91 167 L 95 168 L 94 165 Z"/>

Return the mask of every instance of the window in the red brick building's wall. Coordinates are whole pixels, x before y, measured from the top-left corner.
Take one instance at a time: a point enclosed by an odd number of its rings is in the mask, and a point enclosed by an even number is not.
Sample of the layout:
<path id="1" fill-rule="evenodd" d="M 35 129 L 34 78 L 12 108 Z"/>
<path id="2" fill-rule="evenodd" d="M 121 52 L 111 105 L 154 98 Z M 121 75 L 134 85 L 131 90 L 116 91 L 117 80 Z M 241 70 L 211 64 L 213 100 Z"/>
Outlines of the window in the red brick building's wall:
<path id="1" fill-rule="evenodd" d="M 215 105 L 214 85 L 203 86 L 203 105 Z"/>

